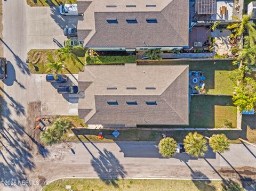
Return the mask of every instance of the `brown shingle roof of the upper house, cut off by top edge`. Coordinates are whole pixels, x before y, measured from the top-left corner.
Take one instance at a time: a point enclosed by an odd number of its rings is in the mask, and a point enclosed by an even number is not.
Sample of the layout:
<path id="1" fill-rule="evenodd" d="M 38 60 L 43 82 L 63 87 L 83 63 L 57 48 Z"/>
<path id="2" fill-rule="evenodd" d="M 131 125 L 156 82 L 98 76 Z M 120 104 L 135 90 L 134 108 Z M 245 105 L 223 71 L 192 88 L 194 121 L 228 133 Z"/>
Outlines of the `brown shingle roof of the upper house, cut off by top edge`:
<path id="1" fill-rule="evenodd" d="M 86 47 L 188 46 L 189 0 L 77 1 Z"/>

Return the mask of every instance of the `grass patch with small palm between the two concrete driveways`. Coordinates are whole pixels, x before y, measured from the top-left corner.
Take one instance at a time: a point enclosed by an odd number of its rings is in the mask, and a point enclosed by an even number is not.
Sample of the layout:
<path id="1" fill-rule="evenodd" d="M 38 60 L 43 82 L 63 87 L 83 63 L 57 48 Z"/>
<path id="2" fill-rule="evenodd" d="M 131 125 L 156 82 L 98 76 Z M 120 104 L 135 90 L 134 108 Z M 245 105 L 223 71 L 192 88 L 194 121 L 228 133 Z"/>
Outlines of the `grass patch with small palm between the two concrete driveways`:
<path id="1" fill-rule="evenodd" d="M 31 62 L 36 61 L 36 54 L 39 55 L 39 60 L 36 64 L 32 64 Z M 77 59 L 72 60 L 71 58 L 65 60 L 63 64 L 66 65 L 68 70 L 62 69 L 61 73 L 78 73 L 79 71 L 84 70 L 84 56 L 85 51 L 79 51 L 75 53 Z M 31 73 L 50 73 L 47 72 L 46 64 L 49 63 L 47 61 L 47 56 L 52 57 L 54 60 L 57 59 L 55 56 L 55 49 L 32 49 L 28 52 L 28 59 L 30 63 L 28 64 L 29 70 Z"/>

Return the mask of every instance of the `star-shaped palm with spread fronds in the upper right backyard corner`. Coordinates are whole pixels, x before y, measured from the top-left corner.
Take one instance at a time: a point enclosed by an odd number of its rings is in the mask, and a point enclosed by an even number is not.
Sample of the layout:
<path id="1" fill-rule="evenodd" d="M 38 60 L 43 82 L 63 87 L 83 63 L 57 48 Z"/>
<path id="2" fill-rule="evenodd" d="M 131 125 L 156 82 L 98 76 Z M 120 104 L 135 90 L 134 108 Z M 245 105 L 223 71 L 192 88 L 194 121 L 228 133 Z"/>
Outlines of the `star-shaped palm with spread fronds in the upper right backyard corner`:
<path id="1" fill-rule="evenodd" d="M 243 15 L 243 20 L 241 20 L 238 16 L 232 16 L 233 19 L 235 19 L 235 23 L 231 23 L 227 26 L 227 29 L 234 30 L 235 32 L 235 38 L 242 36 L 245 29 L 249 28 L 250 30 L 253 30 L 255 24 L 252 24 L 250 22 L 251 16 L 248 16 L 246 14 Z M 254 29 L 255 30 L 255 29 Z"/>

